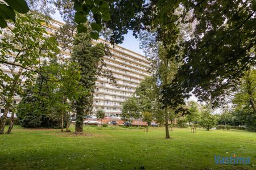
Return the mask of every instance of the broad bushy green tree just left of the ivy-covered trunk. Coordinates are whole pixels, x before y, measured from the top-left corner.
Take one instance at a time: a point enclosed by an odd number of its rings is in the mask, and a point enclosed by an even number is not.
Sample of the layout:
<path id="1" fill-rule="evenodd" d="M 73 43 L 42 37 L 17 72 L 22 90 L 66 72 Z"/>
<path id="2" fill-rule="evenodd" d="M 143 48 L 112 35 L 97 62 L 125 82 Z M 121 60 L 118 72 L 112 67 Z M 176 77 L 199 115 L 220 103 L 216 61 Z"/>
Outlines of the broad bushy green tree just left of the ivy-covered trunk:
<path id="1" fill-rule="evenodd" d="M 77 98 L 77 84 L 80 80 L 76 65 L 66 64 L 57 62 L 56 58 L 45 62 L 41 67 L 42 75 L 38 76 L 34 84 L 26 87 L 17 113 L 22 126 L 53 126 L 64 131 L 64 118 L 70 118 L 71 101 Z"/>

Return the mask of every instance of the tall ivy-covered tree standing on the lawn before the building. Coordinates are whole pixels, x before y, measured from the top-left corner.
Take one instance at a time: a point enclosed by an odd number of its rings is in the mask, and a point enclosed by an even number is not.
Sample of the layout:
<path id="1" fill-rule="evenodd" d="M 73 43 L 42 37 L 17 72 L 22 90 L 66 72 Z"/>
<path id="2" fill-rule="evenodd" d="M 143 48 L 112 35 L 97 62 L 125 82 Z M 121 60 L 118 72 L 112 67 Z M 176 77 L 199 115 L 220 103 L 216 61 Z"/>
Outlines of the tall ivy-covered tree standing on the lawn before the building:
<path id="1" fill-rule="evenodd" d="M 79 98 L 74 100 L 76 111 L 76 133 L 82 132 L 85 114 L 92 112 L 93 92 L 97 75 L 101 70 L 101 59 L 109 55 L 105 45 L 99 43 L 92 45 L 89 33 L 79 33 L 73 41 L 72 61 L 77 62 L 81 79 Z"/>

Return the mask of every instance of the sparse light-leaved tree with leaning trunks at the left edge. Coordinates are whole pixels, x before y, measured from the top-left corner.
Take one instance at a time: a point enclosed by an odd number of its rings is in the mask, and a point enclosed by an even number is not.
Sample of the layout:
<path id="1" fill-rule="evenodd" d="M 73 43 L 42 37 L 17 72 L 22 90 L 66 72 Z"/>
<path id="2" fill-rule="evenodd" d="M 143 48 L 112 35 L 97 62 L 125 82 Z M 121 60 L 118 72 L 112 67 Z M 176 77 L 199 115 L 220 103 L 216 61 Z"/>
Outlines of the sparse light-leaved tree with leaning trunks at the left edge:
<path id="1" fill-rule="evenodd" d="M 53 58 L 56 53 L 59 53 L 57 42 L 52 37 L 43 36 L 47 32 L 41 25 L 42 19 L 32 15 L 16 14 L 16 16 L 14 28 L 9 27 L 10 33 L 5 33 L 0 44 L 0 63 L 11 71 L 7 75 L 0 69 L 1 106 L 5 108 L 0 121 L 0 134 L 3 134 L 7 113 L 10 109 L 12 109 L 13 114 L 7 132 L 10 133 L 13 128 L 15 112 L 13 97 L 22 93 L 24 85 L 34 82 L 36 74 L 40 76 L 42 73 L 40 66 L 43 59 Z M 7 56 L 7 54 L 14 56 Z"/>

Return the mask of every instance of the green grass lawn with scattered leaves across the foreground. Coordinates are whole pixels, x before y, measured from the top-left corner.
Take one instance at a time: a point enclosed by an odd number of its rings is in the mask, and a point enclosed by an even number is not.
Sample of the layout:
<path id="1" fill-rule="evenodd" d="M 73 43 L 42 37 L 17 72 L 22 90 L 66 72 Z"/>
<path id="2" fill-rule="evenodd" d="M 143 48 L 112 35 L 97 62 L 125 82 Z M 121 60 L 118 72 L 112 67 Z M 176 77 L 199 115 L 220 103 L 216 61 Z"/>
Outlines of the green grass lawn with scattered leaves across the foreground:
<path id="1" fill-rule="evenodd" d="M 73 130 L 73 129 L 72 129 Z M 84 128 L 22 129 L 0 135 L 0 169 L 256 169 L 256 133 L 233 130 Z M 220 165 L 214 155 L 250 156 L 249 165 Z"/>

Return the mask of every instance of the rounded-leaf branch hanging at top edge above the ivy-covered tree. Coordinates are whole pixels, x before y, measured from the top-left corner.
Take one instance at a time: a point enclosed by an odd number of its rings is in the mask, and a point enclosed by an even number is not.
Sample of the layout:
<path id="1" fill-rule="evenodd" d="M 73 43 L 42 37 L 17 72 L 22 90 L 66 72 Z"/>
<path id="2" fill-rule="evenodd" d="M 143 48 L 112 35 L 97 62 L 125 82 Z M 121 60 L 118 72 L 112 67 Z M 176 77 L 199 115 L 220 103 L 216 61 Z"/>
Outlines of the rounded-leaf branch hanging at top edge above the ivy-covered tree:
<path id="1" fill-rule="evenodd" d="M 75 22 L 77 23 L 77 32 L 79 33 L 87 31 L 85 26 L 87 21 L 86 17 L 92 12 L 94 22 L 90 25 L 92 27 L 90 37 L 98 39 L 102 28 L 102 21 L 107 22 L 110 20 L 108 3 L 104 0 L 76 0 L 74 9 L 76 11 Z"/>

